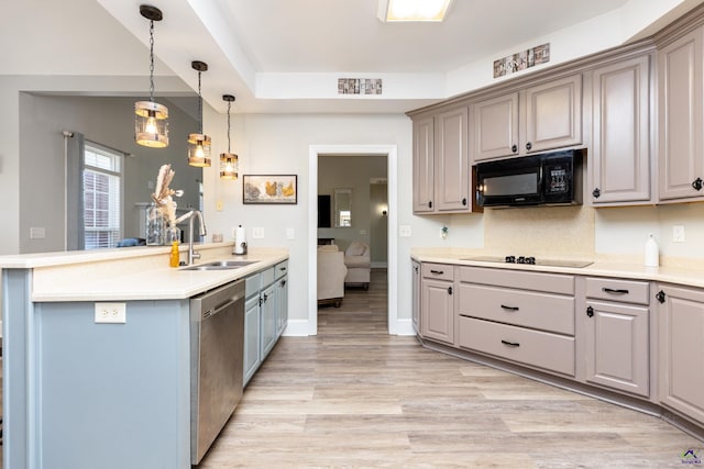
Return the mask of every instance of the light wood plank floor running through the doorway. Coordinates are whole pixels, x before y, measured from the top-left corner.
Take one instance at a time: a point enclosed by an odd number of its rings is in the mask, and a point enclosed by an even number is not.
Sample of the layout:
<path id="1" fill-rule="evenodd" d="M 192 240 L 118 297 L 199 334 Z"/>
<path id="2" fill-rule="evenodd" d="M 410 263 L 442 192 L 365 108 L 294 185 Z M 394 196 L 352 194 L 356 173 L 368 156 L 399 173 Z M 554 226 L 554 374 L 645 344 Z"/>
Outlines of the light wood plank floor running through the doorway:
<path id="1" fill-rule="evenodd" d="M 386 276 L 318 336 L 282 337 L 199 468 L 666 468 L 698 442 L 657 417 L 386 333 Z M 408 292 L 410 294 L 410 291 Z"/>

